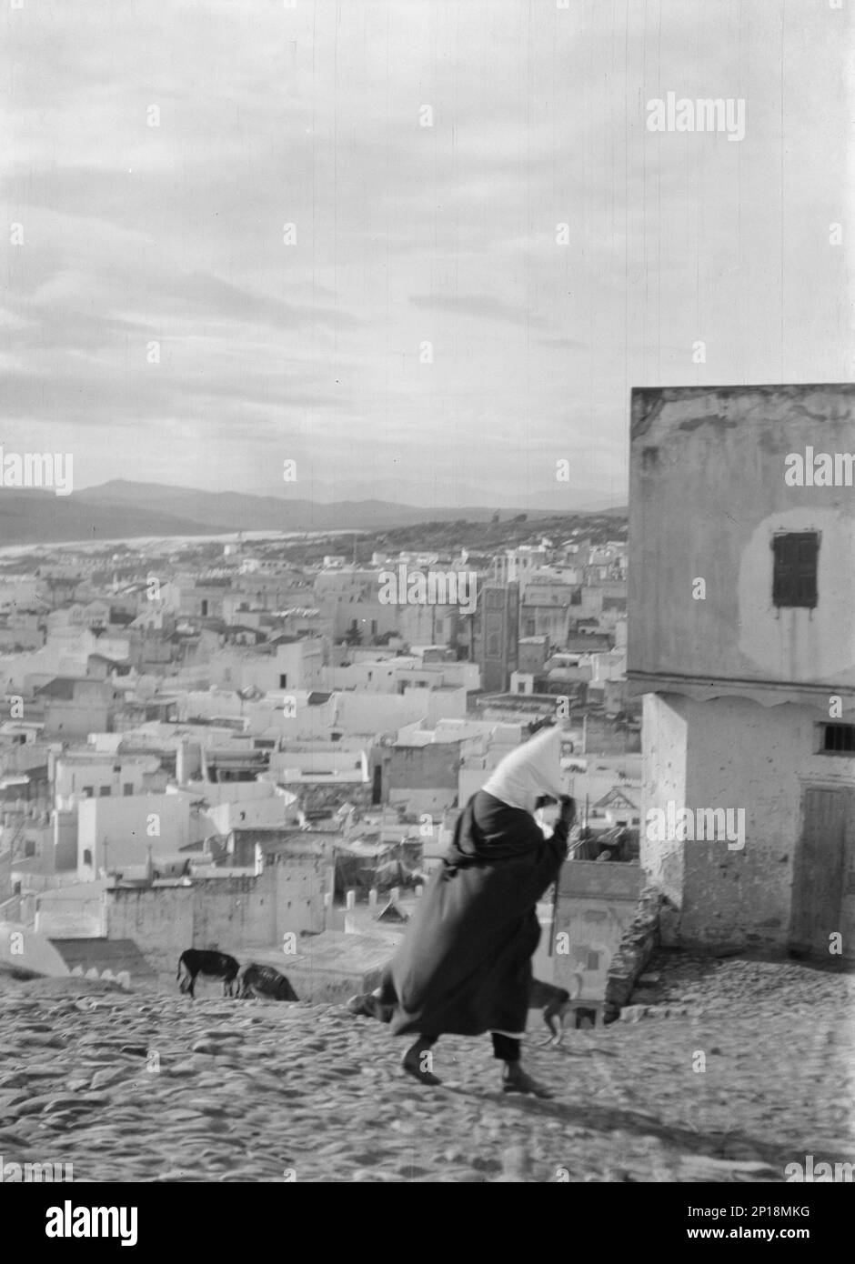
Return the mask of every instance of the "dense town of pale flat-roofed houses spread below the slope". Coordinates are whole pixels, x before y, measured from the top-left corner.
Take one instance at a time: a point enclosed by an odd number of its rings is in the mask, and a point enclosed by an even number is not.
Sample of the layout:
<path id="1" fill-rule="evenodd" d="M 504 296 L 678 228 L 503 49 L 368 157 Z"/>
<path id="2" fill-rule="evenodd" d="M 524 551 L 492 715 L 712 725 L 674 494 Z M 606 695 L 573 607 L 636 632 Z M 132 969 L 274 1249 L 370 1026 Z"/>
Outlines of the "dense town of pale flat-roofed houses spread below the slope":
<path id="1" fill-rule="evenodd" d="M 462 532 L 444 551 L 231 536 L 4 559 L 0 920 L 100 976 L 287 943 L 295 977 L 331 953 L 347 990 L 544 722 L 583 805 L 572 854 L 637 865 L 626 521 L 525 527 L 492 554 Z M 621 925 L 602 920 L 568 961 L 593 1011 Z"/>

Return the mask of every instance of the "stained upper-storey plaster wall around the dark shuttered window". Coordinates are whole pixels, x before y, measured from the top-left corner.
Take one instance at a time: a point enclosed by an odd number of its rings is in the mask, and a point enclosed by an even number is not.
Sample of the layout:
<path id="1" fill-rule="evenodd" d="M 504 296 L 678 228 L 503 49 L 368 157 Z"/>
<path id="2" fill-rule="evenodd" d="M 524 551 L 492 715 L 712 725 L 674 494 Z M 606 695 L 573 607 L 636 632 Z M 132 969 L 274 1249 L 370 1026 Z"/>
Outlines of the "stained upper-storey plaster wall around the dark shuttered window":
<path id="1" fill-rule="evenodd" d="M 855 686 L 855 487 L 788 487 L 807 446 L 855 453 L 855 387 L 632 392 L 630 672 Z M 804 530 L 818 605 L 777 609 L 772 537 Z"/>

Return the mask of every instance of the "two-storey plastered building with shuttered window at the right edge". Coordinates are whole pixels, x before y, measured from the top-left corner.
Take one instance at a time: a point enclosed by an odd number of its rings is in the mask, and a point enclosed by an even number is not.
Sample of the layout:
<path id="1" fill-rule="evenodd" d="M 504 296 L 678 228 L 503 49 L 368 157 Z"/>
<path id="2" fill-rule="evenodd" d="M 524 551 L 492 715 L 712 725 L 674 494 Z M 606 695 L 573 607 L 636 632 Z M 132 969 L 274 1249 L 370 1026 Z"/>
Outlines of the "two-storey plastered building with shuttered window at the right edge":
<path id="1" fill-rule="evenodd" d="M 632 392 L 641 863 L 683 943 L 855 954 L 855 387 Z"/>

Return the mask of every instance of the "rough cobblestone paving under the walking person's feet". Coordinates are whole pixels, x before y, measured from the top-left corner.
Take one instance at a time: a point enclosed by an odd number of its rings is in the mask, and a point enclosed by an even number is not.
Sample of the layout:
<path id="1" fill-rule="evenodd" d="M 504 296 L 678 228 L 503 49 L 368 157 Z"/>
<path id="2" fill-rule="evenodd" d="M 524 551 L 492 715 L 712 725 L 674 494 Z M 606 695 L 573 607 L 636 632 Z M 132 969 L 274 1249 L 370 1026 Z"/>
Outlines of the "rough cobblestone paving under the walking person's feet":
<path id="1" fill-rule="evenodd" d="M 406 1042 L 341 1006 L 0 976 L 5 1179 L 783 1182 L 809 1154 L 855 1160 L 851 975 L 673 952 L 649 975 L 562 1048 L 531 1016 L 550 1101 L 500 1091 L 488 1036 L 440 1040 L 425 1088 Z"/>

